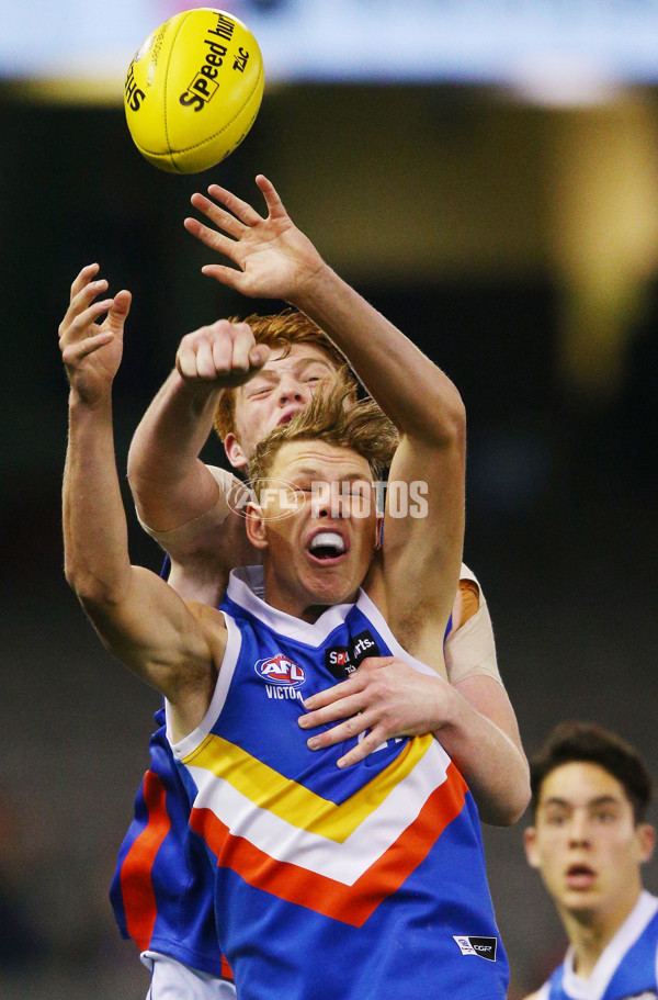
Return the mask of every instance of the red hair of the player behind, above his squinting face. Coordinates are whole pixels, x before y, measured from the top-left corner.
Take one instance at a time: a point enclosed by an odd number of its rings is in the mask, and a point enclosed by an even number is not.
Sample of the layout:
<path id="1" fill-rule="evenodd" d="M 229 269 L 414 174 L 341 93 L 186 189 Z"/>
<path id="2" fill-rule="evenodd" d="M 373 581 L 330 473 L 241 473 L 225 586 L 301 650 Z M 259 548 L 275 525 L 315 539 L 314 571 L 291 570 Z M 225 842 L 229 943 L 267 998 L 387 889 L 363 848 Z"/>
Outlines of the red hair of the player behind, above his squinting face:
<path id="1" fill-rule="evenodd" d="M 344 356 L 308 316 L 296 310 L 288 310 L 270 316 L 259 316 L 253 313 L 246 319 L 231 317 L 230 323 L 248 323 L 252 329 L 257 344 L 264 344 L 273 350 L 281 351 L 283 357 L 299 344 L 315 347 L 327 355 L 327 360 L 338 370 L 347 364 Z M 355 382 L 354 382 L 355 384 Z M 213 424 L 219 440 L 236 432 L 236 389 L 224 389 L 215 406 Z"/>

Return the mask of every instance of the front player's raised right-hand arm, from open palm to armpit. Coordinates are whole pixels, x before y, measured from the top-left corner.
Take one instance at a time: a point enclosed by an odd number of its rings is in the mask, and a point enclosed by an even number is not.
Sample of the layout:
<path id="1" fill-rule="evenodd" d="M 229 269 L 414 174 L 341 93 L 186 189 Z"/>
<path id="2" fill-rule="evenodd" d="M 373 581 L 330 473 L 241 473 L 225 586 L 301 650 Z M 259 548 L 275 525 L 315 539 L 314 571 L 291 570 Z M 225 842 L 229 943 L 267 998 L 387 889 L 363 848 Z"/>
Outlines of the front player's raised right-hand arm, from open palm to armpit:
<path id="1" fill-rule="evenodd" d="M 464 528 L 465 415 L 453 383 L 404 334 L 322 260 L 287 215 L 274 187 L 257 178 L 266 217 L 224 188 L 193 205 L 213 227 L 186 218 L 185 227 L 235 267 L 213 263 L 204 273 L 245 295 L 283 299 L 318 324 L 401 434 L 392 479 L 421 482 L 426 518 L 386 524 L 385 569 L 368 591 L 397 634 L 413 629 L 413 610 L 447 620 L 461 564 Z M 441 582 L 441 586 L 432 584 Z M 441 634 L 441 645 L 442 645 Z M 420 655 L 415 651 L 416 655 Z"/>

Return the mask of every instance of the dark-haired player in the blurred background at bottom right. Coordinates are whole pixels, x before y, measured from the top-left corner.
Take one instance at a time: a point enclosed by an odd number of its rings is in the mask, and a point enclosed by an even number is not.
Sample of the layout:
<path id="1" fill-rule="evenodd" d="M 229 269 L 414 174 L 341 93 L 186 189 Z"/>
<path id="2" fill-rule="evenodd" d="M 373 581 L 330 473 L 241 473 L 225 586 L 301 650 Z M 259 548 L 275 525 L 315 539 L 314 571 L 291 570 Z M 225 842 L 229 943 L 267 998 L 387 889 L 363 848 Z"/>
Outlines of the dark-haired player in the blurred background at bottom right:
<path id="1" fill-rule="evenodd" d="M 600 726 L 563 722 L 531 761 L 531 785 L 525 851 L 569 939 L 532 1000 L 657 997 L 658 899 L 640 870 L 656 840 L 645 762 Z"/>

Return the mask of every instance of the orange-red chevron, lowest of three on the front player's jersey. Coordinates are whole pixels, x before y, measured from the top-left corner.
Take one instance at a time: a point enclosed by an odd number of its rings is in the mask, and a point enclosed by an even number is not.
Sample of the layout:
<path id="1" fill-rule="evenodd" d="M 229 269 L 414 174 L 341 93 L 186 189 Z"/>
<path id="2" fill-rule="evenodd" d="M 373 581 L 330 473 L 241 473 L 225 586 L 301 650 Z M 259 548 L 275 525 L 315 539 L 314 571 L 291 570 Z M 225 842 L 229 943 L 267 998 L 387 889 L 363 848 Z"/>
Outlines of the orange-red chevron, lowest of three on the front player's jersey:
<path id="1" fill-rule="evenodd" d="M 416 819 L 353 886 L 270 857 L 245 838 L 231 834 L 211 809 L 193 809 L 190 825 L 204 838 L 216 855 L 218 866 L 236 872 L 249 885 L 360 928 L 429 854 L 464 808 L 466 791 L 464 778 L 451 763 L 446 780 L 429 796 Z M 342 845 L 337 845 L 336 850 L 343 850 Z"/>

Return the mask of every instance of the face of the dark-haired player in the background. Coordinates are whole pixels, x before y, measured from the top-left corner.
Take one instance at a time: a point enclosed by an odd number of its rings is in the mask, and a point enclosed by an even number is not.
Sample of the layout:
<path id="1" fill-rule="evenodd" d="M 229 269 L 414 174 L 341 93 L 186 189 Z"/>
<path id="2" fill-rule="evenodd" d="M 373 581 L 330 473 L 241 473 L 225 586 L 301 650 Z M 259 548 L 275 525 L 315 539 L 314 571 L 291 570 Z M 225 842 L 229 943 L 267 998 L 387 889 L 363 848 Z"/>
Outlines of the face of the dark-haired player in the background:
<path id="1" fill-rule="evenodd" d="M 548 774 L 535 824 L 525 831 L 527 859 L 563 913 L 628 912 L 653 845 L 653 828 L 635 823 L 620 782 L 585 762 Z"/>

